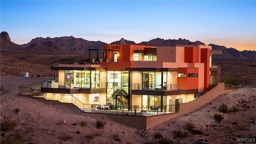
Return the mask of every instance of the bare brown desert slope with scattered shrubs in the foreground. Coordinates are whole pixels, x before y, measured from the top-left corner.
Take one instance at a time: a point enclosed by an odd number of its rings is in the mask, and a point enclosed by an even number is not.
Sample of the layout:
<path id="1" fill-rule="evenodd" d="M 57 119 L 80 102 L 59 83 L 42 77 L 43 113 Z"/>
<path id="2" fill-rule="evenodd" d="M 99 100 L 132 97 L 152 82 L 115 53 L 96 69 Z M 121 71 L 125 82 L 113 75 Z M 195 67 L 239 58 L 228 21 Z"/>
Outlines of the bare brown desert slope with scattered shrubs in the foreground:
<path id="1" fill-rule="evenodd" d="M 195 112 L 137 130 L 72 104 L 18 95 L 19 85 L 49 79 L 1 76 L 1 144 L 242 144 L 241 138 L 256 138 L 256 88 L 222 94 Z M 220 112 L 222 104 L 227 112 Z"/>

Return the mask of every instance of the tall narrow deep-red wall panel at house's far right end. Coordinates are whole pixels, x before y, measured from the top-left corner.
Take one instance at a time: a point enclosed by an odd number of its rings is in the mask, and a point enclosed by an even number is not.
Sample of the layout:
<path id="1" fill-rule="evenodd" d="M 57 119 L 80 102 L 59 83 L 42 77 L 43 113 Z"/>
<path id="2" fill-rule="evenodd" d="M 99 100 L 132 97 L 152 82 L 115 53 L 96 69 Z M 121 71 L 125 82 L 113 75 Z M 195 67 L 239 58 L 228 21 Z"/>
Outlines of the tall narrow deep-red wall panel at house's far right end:
<path id="1" fill-rule="evenodd" d="M 204 63 L 204 90 L 210 88 L 210 49 L 201 48 L 201 59 L 200 63 Z"/>

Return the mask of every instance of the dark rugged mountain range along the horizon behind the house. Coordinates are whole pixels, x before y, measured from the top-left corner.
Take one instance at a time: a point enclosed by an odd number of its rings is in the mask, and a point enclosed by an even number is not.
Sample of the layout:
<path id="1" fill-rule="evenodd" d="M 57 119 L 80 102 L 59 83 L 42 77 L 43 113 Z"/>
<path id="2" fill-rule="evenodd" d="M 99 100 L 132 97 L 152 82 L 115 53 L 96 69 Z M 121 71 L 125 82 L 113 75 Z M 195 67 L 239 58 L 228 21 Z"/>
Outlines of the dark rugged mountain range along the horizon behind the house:
<path id="1" fill-rule="evenodd" d="M 57 38 L 34 38 L 27 44 L 18 45 L 10 40 L 7 32 L 1 32 L 1 52 L 21 52 L 32 54 L 87 54 L 88 49 L 102 49 L 105 42 L 101 41 L 88 41 L 82 38 L 74 38 L 73 36 L 63 36 Z M 164 40 L 156 38 L 148 42 L 141 42 L 136 44 L 133 41 L 121 38 L 118 41 L 110 44 L 134 44 L 146 46 L 176 46 L 176 45 L 194 45 L 203 42 L 196 41 L 190 42 L 189 40 L 179 38 L 178 40 Z M 234 48 L 226 48 L 225 46 L 218 46 L 209 44 L 213 50 L 222 50 L 222 55 L 213 56 L 213 58 L 228 58 L 228 59 L 256 59 L 256 51 L 244 50 L 242 52 Z"/>

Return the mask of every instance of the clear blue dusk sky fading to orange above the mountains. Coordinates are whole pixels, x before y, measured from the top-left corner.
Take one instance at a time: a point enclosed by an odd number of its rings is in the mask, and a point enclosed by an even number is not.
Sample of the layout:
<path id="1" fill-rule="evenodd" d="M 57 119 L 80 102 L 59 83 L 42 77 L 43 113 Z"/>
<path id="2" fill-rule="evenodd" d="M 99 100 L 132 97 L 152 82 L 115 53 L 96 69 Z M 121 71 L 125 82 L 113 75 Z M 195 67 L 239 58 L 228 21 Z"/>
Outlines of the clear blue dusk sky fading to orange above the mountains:
<path id="1" fill-rule="evenodd" d="M 256 1 L 0 1 L 0 29 L 11 41 L 74 36 L 136 43 L 199 40 L 256 50 Z"/>

